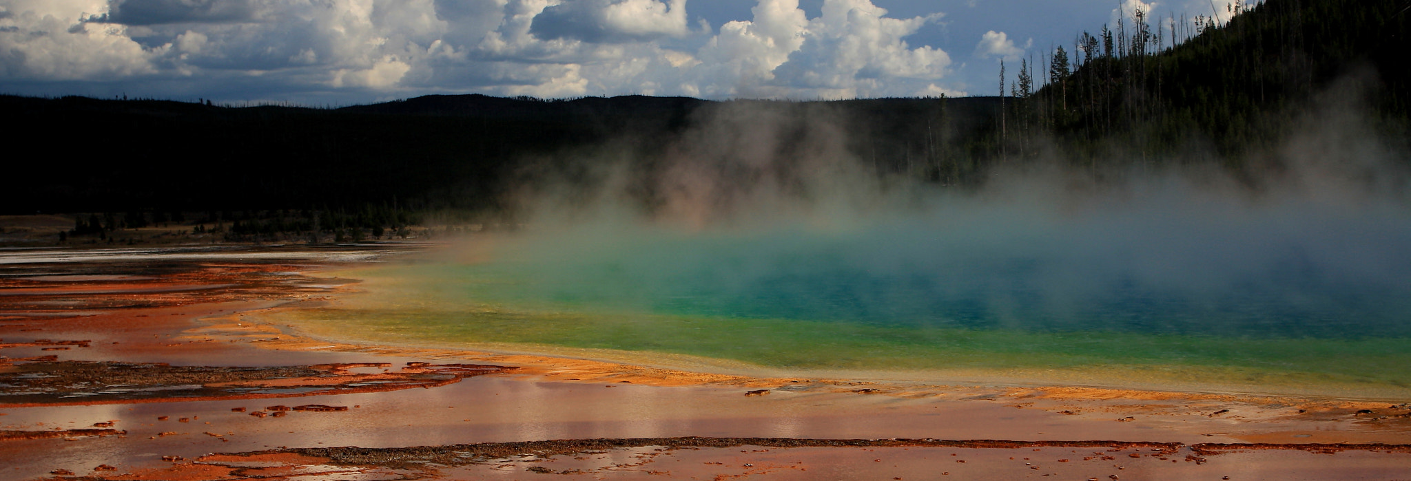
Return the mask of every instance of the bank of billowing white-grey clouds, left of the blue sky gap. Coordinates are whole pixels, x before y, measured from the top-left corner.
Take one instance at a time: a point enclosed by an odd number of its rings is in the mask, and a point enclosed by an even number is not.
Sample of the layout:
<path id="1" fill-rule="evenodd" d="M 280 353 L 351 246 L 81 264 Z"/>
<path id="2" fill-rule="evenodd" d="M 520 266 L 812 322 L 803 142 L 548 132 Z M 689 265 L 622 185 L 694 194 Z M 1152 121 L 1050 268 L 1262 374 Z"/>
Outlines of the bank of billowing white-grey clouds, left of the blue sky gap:
<path id="1" fill-rule="evenodd" d="M 706 0 L 696 0 L 706 1 Z M 758 0 L 690 27 L 686 0 L 0 0 L 0 87 L 138 92 L 852 97 L 944 92 L 951 58 L 904 38 L 940 14 Z M 573 14 L 571 17 L 566 17 Z M 72 31 L 72 32 L 71 32 Z M 154 95 L 161 95 L 154 92 Z"/>

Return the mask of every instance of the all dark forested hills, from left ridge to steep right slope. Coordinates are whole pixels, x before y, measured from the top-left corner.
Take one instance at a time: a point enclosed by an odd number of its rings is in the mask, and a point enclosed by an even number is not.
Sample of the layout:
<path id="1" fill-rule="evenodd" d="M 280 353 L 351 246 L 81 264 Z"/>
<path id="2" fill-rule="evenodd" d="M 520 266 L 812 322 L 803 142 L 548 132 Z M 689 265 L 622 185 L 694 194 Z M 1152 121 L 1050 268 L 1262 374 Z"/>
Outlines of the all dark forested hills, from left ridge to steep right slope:
<path id="1" fill-rule="evenodd" d="M 1187 27 L 1156 27 L 1168 21 Z M 823 137 L 841 142 L 823 154 L 941 185 L 1054 158 L 1204 159 L 1249 173 L 1246 159 L 1292 134 L 1322 97 L 1353 99 L 1369 134 L 1404 144 L 1407 52 L 1411 0 L 1267 0 L 1226 24 L 1137 11 L 1078 32 L 1067 52 L 1034 62 L 1043 68 L 1009 65 L 1009 99 L 468 95 L 301 109 L 0 96 L 0 114 L 18 120 L 11 138 L 42 152 L 6 162 L 0 213 L 497 212 L 525 183 L 571 178 L 583 162 L 625 161 L 646 179 L 679 152 L 765 133 L 763 155 L 782 164 L 818 155 L 810 142 Z"/>

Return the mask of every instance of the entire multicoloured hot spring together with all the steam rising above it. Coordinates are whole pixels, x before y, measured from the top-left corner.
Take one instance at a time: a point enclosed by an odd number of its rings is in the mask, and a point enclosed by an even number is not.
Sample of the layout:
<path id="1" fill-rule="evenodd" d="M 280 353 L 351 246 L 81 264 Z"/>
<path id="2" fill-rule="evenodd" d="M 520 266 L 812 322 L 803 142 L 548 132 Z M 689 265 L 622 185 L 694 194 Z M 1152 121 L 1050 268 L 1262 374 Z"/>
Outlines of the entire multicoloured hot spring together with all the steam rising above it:
<path id="1" fill-rule="evenodd" d="M 363 272 L 384 282 L 315 317 L 780 368 L 1411 384 L 1405 162 L 1355 123 L 1254 183 L 1027 164 L 954 188 L 875 175 L 827 118 L 725 111 L 650 169 L 586 155 L 525 190 L 522 230 Z"/>

